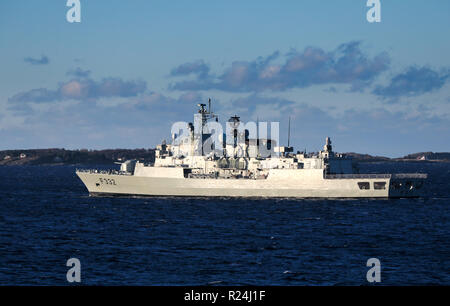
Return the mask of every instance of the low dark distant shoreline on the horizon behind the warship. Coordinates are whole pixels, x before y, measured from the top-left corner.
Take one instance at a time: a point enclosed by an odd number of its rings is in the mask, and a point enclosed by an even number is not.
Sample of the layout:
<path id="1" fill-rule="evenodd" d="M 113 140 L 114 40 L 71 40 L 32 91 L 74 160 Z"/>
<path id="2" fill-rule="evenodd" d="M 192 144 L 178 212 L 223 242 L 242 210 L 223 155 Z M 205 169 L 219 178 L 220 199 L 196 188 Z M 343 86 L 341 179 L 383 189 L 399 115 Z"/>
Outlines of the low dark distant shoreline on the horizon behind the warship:
<path id="1" fill-rule="evenodd" d="M 420 152 L 400 158 L 372 156 L 360 153 L 343 153 L 357 162 L 450 162 L 450 153 Z M 112 165 L 128 159 L 152 162 L 155 149 L 105 149 L 105 150 L 66 150 L 66 149 L 28 149 L 0 151 L 0 166 L 20 165 Z"/>

